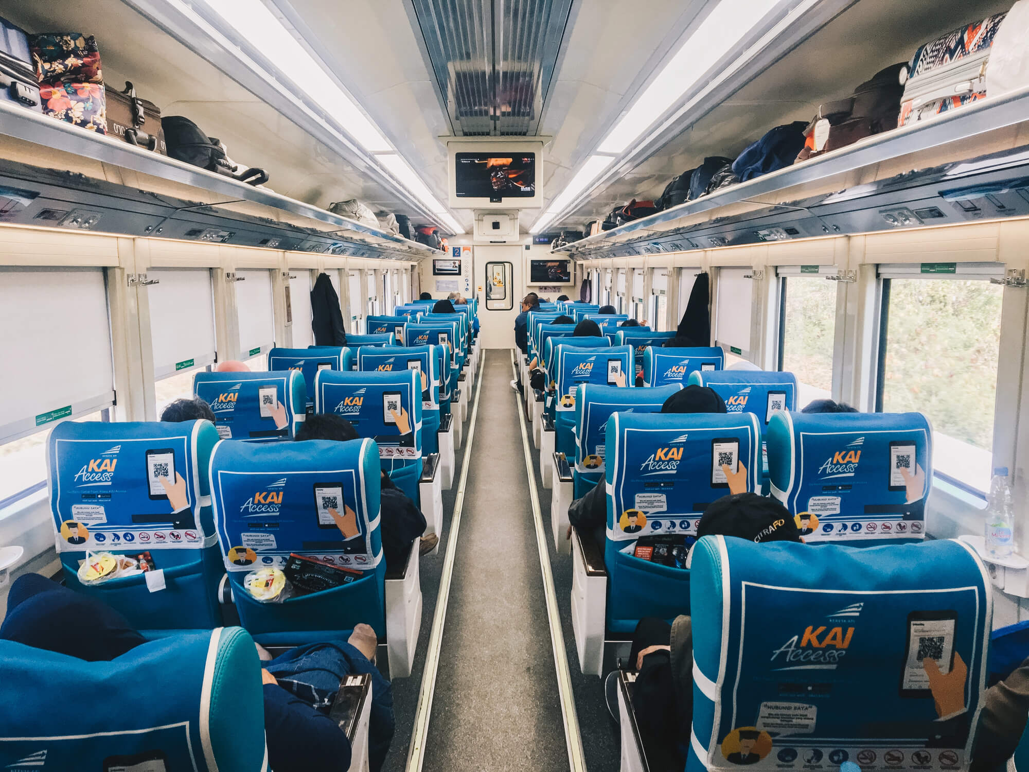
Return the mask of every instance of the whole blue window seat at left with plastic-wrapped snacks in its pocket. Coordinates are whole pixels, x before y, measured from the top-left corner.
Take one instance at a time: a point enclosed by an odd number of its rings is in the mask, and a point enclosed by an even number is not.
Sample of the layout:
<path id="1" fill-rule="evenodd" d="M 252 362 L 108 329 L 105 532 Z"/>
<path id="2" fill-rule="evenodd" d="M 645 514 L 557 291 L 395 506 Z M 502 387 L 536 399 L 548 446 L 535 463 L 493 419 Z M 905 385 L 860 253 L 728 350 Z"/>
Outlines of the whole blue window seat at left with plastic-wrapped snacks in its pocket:
<path id="1" fill-rule="evenodd" d="M 210 421 L 58 424 L 49 437 L 47 484 L 68 587 L 113 606 L 140 630 L 220 625 L 224 570 L 208 480 L 217 442 Z M 165 477 L 174 490 L 166 489 Z M 87 550 L 151 553 L 165 589 L 150 592 L 142 572 L 100 584 L 79 581 Z"/>

